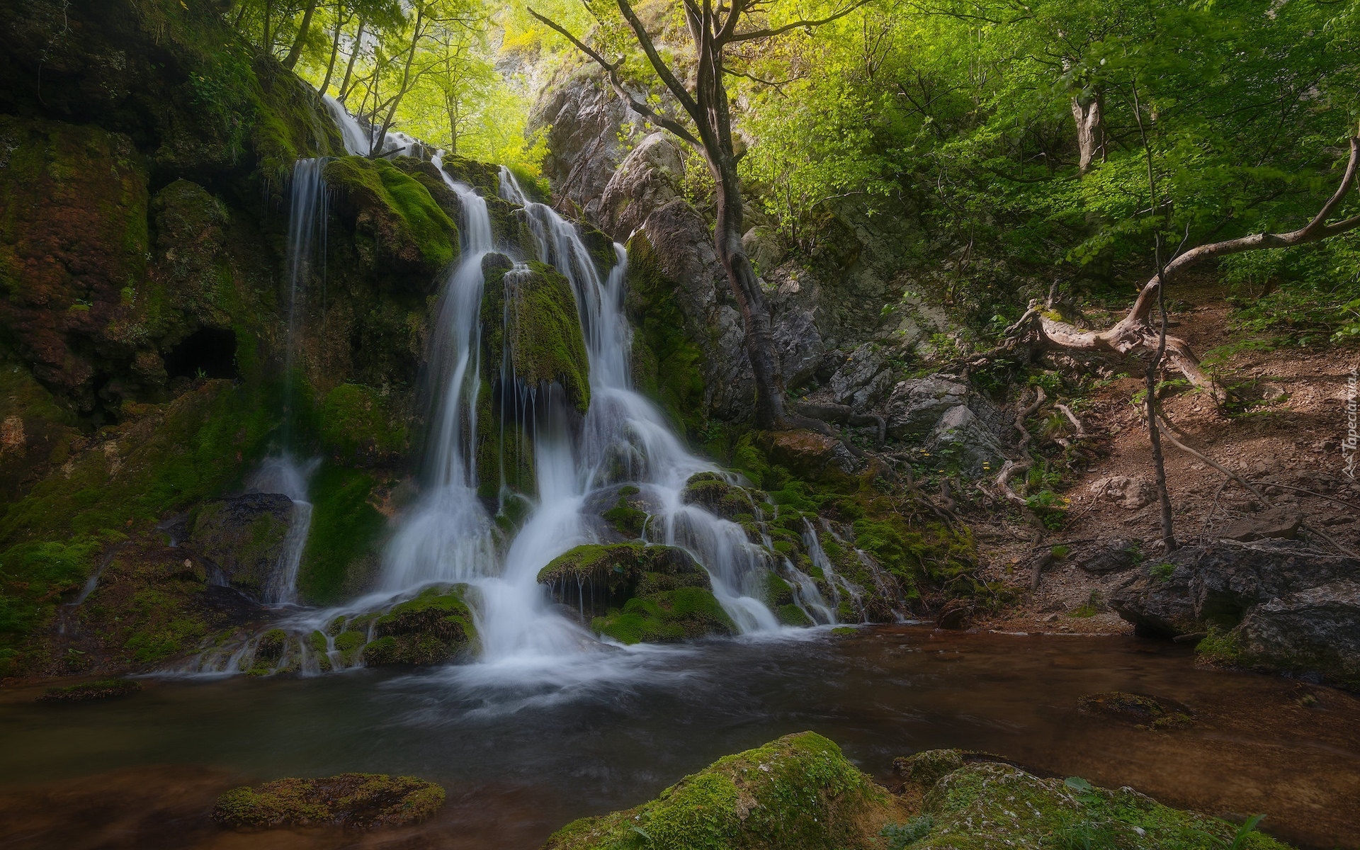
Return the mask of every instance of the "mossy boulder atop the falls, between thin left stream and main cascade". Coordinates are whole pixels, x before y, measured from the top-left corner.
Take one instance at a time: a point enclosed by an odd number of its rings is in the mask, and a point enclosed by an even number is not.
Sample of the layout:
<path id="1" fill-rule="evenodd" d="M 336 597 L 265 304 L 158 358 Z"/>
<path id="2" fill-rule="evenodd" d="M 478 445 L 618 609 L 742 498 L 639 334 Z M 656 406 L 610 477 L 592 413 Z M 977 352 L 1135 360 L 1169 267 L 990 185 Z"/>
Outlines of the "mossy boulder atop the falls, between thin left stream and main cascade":
<path id="1" fill-rule="evenodd" d="M 458 228 L 430 190 L 390 162 L 363 156 L 330 160 L 325 178 L 360 262 L 432 292 L 435 273 L 458 256 Z"/>

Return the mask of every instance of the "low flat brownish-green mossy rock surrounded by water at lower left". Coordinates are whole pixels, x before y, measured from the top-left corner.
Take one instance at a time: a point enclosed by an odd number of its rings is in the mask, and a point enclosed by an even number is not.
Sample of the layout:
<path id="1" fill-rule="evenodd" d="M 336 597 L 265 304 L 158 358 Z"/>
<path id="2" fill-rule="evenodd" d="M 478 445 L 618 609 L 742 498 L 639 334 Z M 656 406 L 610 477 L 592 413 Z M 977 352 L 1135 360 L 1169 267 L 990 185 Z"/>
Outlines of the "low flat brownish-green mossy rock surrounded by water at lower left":
<path id="1" fill-rule="evenodd" d="M 340 774 L 276 779 L 218 797 L 212 819 L 243 830 L 340 826 L 367 830 L 419 823 L 443 806 L 443 787 L 416 777 Z"/>

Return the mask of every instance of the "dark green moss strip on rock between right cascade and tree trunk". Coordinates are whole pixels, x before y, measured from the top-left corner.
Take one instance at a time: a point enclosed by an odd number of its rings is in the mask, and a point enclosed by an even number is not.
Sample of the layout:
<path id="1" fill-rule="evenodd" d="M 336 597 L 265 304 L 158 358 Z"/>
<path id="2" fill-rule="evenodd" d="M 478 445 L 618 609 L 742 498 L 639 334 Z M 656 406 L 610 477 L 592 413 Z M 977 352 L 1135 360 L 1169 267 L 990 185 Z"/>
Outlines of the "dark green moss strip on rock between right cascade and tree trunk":
<path id="1" fill-rule="evenodd" d="M 690 431 L 706 424 L 703 351 L 685 333 L 685 317 L 646 234 L 628 239 L 628 318 L 634 384 Z M 756 479 L 759 480 L 759 479 Z"/>

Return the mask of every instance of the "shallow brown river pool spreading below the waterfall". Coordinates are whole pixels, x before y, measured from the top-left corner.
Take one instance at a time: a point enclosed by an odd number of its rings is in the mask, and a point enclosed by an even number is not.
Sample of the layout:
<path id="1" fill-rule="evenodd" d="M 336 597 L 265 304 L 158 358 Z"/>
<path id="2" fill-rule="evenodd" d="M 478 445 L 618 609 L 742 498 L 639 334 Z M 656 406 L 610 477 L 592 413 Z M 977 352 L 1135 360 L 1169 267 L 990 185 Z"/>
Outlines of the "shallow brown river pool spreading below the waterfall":
<path id="1" fill-rule="evenodd" d="M 1360 847 L 1360 700 L 1197 669 L 1186 647 L 1137 638 L 880 627 L 574 665 L 147 685 L 73 706 L 0 691 L 0 847 L 533 849 L 574 817 L 802 729 L 884 782 L 894 756 L 967 747 L 1171 805 L 1265 812 L 1266 831 L 1302 846 Z M 1076 711 L 1104 690 L 1179 700 L 1197 725 L 1149 732 Z M 231 785 L 341 771 L 435 779 L 449 805 L 367 835 L 237 834 L 207 816 Z"/>

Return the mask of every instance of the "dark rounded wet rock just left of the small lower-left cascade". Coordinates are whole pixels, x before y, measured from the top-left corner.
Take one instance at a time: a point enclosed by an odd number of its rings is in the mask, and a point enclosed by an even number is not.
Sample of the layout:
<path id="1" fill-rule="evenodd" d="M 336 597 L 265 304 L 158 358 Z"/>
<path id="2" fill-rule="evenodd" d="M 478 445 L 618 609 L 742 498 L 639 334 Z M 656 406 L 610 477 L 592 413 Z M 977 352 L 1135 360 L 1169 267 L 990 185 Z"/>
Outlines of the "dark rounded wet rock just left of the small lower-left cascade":
<path id="1" fill-rule="evenodd" d="M 189 545 L 215 568 L 215 581 L 258 597 L 283 554 L 292 499 L 252 492 L 208 502 L 199 510 Z"/>

